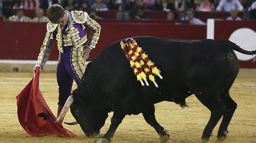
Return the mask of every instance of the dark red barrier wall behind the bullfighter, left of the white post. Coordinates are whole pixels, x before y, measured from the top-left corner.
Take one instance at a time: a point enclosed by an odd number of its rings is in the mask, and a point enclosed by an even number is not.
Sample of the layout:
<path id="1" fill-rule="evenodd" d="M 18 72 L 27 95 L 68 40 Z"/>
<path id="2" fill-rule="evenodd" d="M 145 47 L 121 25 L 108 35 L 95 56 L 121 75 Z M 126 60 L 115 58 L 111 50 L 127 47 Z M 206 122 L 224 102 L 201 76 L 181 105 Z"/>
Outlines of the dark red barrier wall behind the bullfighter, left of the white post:
<path id="1" fill-rule="evenodd" d="M 206 26 L 175 25 L 173 23 L 104 23 L 101 36 L 90 53 L 95 58 L 107 45 L 122 38 L 158 36 L 172 39 L 205 39 Z M 46 23 L 0 22 L 0 59 L 37 60 L 46 33 Z M 89 36 L 88 36 L 89 37 Z M 49 60 L 57 60 L 56 45 Z"/>

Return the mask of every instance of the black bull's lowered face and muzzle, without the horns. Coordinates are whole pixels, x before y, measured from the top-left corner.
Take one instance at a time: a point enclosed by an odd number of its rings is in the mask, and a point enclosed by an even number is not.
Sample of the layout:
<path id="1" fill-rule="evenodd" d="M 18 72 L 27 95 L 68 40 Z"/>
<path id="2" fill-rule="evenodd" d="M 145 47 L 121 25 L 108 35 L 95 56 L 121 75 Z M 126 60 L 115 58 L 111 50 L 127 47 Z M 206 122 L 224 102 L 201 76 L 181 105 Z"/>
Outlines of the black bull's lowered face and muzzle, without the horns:
<path id="1" fill-rule="evenodd" d="M 107 113 L 99 113 L 90 105 L 79 105 L 76 102 L 72 103 L 70 111 L 87 137 L 101 137 L 100 129 L 105 124 Z"/>

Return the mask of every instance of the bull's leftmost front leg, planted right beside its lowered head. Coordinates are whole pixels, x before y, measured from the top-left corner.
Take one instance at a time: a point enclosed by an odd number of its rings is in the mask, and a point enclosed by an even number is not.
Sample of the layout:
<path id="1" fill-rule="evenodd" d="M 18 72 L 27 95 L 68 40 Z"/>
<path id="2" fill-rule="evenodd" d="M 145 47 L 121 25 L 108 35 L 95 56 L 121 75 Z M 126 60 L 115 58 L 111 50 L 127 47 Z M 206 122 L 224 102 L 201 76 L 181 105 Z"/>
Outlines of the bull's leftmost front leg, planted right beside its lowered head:
<path id="1" fill-rule="evenodd" d="M 125 117 L 125 115 L 123 115 L 123 114 L 114 113 L 114 115 L 111 119 L 111 124 L 110 124 L 109 130 L 101 139 L 99 139 L 99 141 L 97 141 L 97 143 L 109 143 L 110 139 L 114 136 L 114 132 L 116 132 L 117 127 L 122 122 L 124 117 Z"/>

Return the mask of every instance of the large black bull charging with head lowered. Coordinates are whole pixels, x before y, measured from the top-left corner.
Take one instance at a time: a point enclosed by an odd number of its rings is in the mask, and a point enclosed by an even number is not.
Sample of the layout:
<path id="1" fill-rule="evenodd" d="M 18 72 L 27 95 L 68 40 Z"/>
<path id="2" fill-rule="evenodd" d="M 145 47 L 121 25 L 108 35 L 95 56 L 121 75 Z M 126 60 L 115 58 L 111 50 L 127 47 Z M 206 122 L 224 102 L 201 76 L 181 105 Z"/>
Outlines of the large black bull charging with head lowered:
<path id="1" fill-rule="evenodd" d="M 160 141 L 165 142 L 169 135 L 155 119 L 154 104 L 170 101 L 183 107 L 186 106 L 185 99 L 195 94 L 211 111 L 202 141 L 209 140 L 222 116 L 217 139 L 224 140 L 237 108 L 237 103 L 229 95 L 229 89 L 239 72 L 233 50 L 247 55 L 256 54 L 256 51 L 245 51 L 226 40 L 170 40 L 157 37 L 135 37 L 134 40 L 161 70 L 163 79 L 155 78 L 159 88 L 152 82 L 148 87 L 142 87 L 120 47 L 120 41 L 112 43 L 87 65 L 83 82 L 65 105 L 69 107 L 72 103 L 71 113 L 85 135 L 99 134 L 108 113 L 113 111 L 111 126 L 99 139 L 99 142 L 108 142 L 125 115 L 142 113 L 146 122 L 160 135 Z"/>

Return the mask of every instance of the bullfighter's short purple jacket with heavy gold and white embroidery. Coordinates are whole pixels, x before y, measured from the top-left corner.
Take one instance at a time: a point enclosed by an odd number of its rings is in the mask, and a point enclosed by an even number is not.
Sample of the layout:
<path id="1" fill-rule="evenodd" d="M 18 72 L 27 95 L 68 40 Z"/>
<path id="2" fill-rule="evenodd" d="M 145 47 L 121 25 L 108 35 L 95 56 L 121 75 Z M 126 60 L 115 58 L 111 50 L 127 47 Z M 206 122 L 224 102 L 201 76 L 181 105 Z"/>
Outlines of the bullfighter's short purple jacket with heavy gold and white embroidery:
<path id="1" fill-rule="evenodd" d="M 37 58 L 37 64 L 35 66 L 40 66 L 42 69 L 48 60 L 54 40 L 57 40 L 58 50 L 64 53 L 63 46 L 72 46 L 72 48 L 79 48 L 87 41 L 87 36 L 82 38 L 79 36 L 79 31 L 74 27 L 75 24 L 81 24 L 83 30 L 85 26 L 91 30 L 91 36 L 87 45 L 92 49 L 95 48 L 97 41 L 99 40 L 99 35 L 101 32 L 101 26 L 93 19 L 91 19 L 86 12 L 83 11 L 71 11 L 69 15 L 70 24 L 68 25 L 69 31 L 67 35 L 61 33 L 60 24 L 47 23 L 47 32 L 43 45 L 41 46 L 41 51 Z"/>

